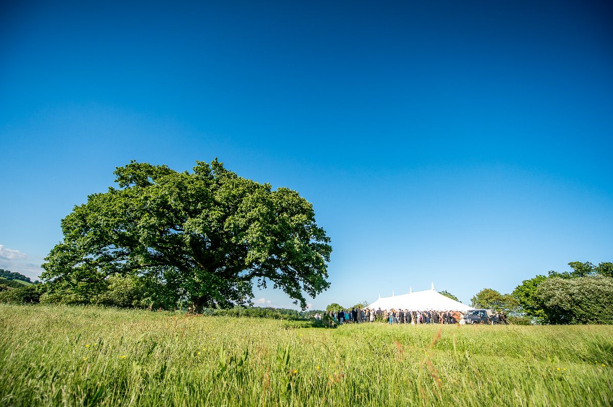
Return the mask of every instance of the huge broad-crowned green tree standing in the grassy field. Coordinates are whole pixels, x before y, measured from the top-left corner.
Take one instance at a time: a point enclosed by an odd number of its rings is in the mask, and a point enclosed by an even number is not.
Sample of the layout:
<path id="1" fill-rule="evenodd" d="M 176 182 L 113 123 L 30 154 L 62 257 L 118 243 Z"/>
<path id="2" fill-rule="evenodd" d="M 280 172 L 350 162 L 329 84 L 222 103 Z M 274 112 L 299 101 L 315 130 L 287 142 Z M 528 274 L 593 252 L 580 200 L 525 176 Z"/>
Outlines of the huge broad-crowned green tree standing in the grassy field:
<path id="1" fill-rule="evenodd" d="M 303 309 L 305 293 L 329 287 L 330 239 L 294 190 L 216 159 L 192 173 L 132 161 L 115 175 L 118 189 L 89 195 L 62 220 L 63 242 L 42 265 L 48 293 L 95 296 L 113 275 L 134 276 L 201 312 L 252 304 L 254 283 L 272 283 Z"/>

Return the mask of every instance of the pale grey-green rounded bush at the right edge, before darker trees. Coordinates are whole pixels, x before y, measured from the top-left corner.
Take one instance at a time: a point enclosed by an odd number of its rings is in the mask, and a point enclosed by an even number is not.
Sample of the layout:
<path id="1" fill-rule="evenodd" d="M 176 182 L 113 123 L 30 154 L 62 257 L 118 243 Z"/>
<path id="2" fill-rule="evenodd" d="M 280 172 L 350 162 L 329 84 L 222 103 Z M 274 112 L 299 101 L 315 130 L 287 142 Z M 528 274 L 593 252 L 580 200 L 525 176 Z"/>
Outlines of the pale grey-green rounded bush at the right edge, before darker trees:
<path id="1" fill-rule="evenodd" d="M 552 324 L 613 324 L 613 278 L 551 277 L 536 296 Z"/>

